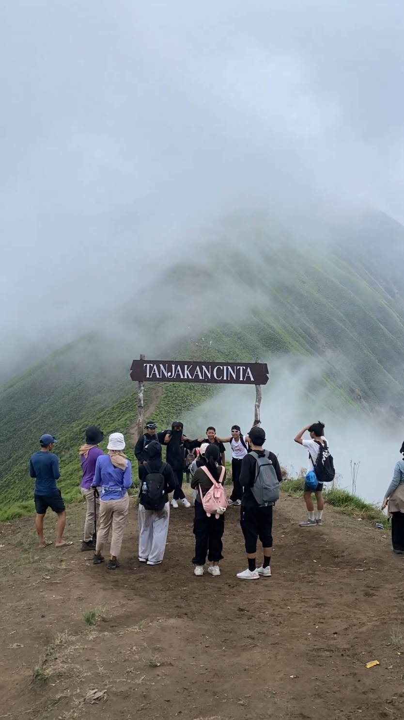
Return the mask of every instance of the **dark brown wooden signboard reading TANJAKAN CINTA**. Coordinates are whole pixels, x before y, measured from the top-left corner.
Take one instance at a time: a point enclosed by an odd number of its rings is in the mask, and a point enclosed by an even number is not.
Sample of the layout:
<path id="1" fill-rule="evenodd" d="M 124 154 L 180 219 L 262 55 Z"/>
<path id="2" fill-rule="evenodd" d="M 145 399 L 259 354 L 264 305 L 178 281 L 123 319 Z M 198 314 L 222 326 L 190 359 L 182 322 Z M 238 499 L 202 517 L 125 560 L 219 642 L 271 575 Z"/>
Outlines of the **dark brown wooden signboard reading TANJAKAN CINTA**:
<path id="1" fill-rule="evenodd" d="M 138 382 L 206 382 L 265 385 L 266 363 L 134 360 L 130 377 Z"/>

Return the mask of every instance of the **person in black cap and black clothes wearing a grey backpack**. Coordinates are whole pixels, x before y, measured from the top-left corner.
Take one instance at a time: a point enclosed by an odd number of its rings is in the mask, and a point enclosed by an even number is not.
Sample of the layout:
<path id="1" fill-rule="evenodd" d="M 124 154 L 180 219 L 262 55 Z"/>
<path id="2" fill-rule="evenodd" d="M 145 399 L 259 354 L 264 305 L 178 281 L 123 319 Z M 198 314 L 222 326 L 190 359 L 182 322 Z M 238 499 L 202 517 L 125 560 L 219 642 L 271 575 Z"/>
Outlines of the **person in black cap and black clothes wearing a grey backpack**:
<path id="1" fill-rule="evenodd" d="M 263 448 L 265 431 L 262 428 L 251 428 L 248 438 L 251 452 L 244 455 L 240 473 L 240 484 L 244 487 L 240 526 L 244 535 L 248 568 L 243 572 L 238 572 L 237 577 L 240 580 L 258 580 L 260 577 L 271 576 L 272 513 L 276 500 L 260 504 L 256 499 L 257 485 L 262 481 L 262 472 L 264 472 L 265 483 L 269 481 L 272 491 L 275 488 L 279 497 L 279 484 L 283 477 L 277 456 Z M 258 538 L 262 542 L 264 562 L 257 569 Z"/>

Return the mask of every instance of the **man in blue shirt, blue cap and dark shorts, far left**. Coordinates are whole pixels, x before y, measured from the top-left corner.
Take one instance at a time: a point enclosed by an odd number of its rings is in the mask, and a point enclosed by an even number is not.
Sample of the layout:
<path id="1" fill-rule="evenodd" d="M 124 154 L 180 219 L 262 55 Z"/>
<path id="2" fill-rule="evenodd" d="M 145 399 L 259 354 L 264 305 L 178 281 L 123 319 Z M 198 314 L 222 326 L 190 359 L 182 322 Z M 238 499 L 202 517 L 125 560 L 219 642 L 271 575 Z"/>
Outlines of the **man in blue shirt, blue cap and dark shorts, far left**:
<path id="1" fill-rule="evenodd" d="M 52 450 L 58 441 L 52 435 L 45 434 L 40 438 L 41 449 L 35 452 L 29 459 L 29 475 L 35 477 L 35 528 L 40 539 L 40 547 L 51 545 L 43 536 L 43 521 L 47 508 L 58 515 L 56 527 L 56 547 L 72 545 L 71 542 L 63 540 L 63 531 L 66 524 L 66 509 L 62 494 L 56 485 L 60 478 L 59 459 Z"/>

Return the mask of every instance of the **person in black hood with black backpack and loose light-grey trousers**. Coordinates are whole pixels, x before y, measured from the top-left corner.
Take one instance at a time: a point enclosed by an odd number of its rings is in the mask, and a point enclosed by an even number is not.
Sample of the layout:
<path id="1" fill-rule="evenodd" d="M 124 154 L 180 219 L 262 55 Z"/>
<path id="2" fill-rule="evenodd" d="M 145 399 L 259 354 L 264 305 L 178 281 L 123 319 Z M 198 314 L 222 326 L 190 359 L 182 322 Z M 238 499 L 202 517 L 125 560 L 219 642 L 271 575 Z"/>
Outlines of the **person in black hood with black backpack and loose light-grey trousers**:
<path id="1" fill-rule="evenodd" d="M 168 493 L 177 486 L 173 470 L 161 459 L 161 445 L 148 446 L 148 459 L 139 465 L 139 562 L 159 565 L 165 553 L 170 502 Z"/>

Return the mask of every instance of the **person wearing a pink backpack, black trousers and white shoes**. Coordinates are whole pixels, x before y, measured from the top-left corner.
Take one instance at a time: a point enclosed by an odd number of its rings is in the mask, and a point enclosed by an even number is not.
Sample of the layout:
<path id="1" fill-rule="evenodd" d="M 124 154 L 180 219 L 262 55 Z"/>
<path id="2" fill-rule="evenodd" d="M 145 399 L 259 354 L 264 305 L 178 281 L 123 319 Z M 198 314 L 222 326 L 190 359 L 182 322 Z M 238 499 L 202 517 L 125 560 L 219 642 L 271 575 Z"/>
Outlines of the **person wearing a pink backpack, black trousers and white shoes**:
<path id="1" fill-rule="evenodd" d="M 193 534 L 195 535 L 195 555 L 192 560 L 195 567 L 193 572 L 197 577 L 203 575 L 203 565 L 206 562 L 207 555 L 208 561 L 211 563 L 208 567 L 208 573 L 217 577 L 220 575 L 219 562 L 223 559 L 221 553 L 223 551 L 224 510 L 220 514 L 208 515 L 203 507 L 202 498 L 214 485 L 211 477 L 216 482 L 220 482 L 221 485 L 224 484 L 226 469 L 220 465 L 219 447 L 213 443 L 206 445 L 205 457 L 202 462 L 203 464 L 196 469 L 190 483 L 190 487 L 197 491 L 193 520 Z M 226 503 L 226 498 L 224 498 L 224 503 Z"/>

